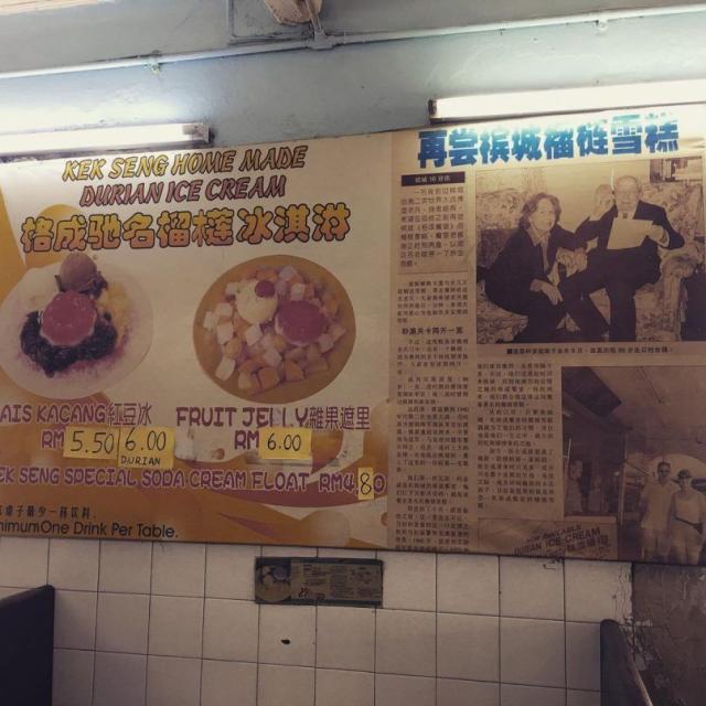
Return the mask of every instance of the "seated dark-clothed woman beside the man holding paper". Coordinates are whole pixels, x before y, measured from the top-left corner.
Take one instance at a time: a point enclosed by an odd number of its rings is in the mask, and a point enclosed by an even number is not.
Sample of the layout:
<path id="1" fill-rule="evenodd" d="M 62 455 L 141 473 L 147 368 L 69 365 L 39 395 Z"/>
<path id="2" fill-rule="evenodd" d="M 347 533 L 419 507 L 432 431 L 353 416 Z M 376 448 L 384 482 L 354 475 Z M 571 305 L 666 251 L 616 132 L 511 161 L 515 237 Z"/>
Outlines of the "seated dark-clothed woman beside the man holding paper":
<path id="1" fill-rule="evenodd" d="M 515 343 L 550 343 L 568 313 L 582 340 L 600 336 L 606 321 L 589 297 L 567 299 L 560 290 L 557 253 L 577 250 L 579 267 L 586 267 L 582 243 L 559 225 L 561 206 L 552 194 L 538 193 L 525 203 L 517 231 L 485 275 L 485 295 L 499 307 L 527 317 Z"/>

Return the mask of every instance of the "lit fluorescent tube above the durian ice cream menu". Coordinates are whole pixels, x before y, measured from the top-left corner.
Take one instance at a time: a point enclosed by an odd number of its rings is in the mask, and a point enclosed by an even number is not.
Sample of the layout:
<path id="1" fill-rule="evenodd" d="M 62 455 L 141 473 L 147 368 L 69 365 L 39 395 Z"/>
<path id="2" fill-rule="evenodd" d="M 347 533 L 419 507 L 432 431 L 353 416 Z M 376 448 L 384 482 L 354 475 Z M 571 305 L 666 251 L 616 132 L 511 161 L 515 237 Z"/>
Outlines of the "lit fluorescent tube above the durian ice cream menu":
<path id="1" fill-rule="evenodd" d="M 208 126 L 205 122 L 171 122 L 0 135 L 0 157 L 151 149 L 156 147 L 196 147 L 207 143 Z"/>

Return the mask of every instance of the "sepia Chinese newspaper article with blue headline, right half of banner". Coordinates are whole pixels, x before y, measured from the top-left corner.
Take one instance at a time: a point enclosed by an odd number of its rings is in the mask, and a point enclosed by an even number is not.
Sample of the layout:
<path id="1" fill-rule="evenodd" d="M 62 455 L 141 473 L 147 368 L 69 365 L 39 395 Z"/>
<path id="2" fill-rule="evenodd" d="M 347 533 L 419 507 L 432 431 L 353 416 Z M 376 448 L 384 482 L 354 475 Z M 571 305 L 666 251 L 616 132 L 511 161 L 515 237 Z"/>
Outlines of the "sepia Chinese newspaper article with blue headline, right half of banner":
<path id="1" fill-rule="evenodd" d="M 391 544 L 700 561 L 703 118 L 395 136 Z"/>

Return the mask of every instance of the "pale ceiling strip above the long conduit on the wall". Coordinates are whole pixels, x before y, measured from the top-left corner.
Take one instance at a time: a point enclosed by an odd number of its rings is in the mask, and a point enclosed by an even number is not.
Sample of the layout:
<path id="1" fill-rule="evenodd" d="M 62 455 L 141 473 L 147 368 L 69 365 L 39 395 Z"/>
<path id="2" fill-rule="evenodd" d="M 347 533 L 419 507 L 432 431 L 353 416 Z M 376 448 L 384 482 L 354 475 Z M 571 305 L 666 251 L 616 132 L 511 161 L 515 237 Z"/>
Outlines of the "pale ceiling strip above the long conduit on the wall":
<path id="1" fill-rule="evenodd" d="M 0 0 L 0 7 L 29 0 Z M 0 75 L 95 62 L 202 53 L 331 49 L 341 43 L 424 38 L 703 11 L 695 0 L 324 0 L 324 41 L 310 25 L 285 26 L 263 0 L 42 0 L 43 9 L 3 17 Z M 608 30 L 609 31 L 609 30 Z M 318 38 L 321 40 L 321 36 Z"/>

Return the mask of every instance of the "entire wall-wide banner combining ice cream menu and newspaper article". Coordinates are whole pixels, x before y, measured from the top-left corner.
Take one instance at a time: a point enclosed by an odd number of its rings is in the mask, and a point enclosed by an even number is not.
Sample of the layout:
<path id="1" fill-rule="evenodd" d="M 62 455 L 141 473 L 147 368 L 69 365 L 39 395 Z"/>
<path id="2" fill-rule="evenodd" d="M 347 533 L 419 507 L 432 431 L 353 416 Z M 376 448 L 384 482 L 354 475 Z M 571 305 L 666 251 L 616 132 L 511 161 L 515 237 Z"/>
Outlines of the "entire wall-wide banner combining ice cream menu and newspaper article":
<path id="1" fill-rule="evenodd" d="M 704 118 L 0 165 L 0 534 L 699 563 Z"/>

